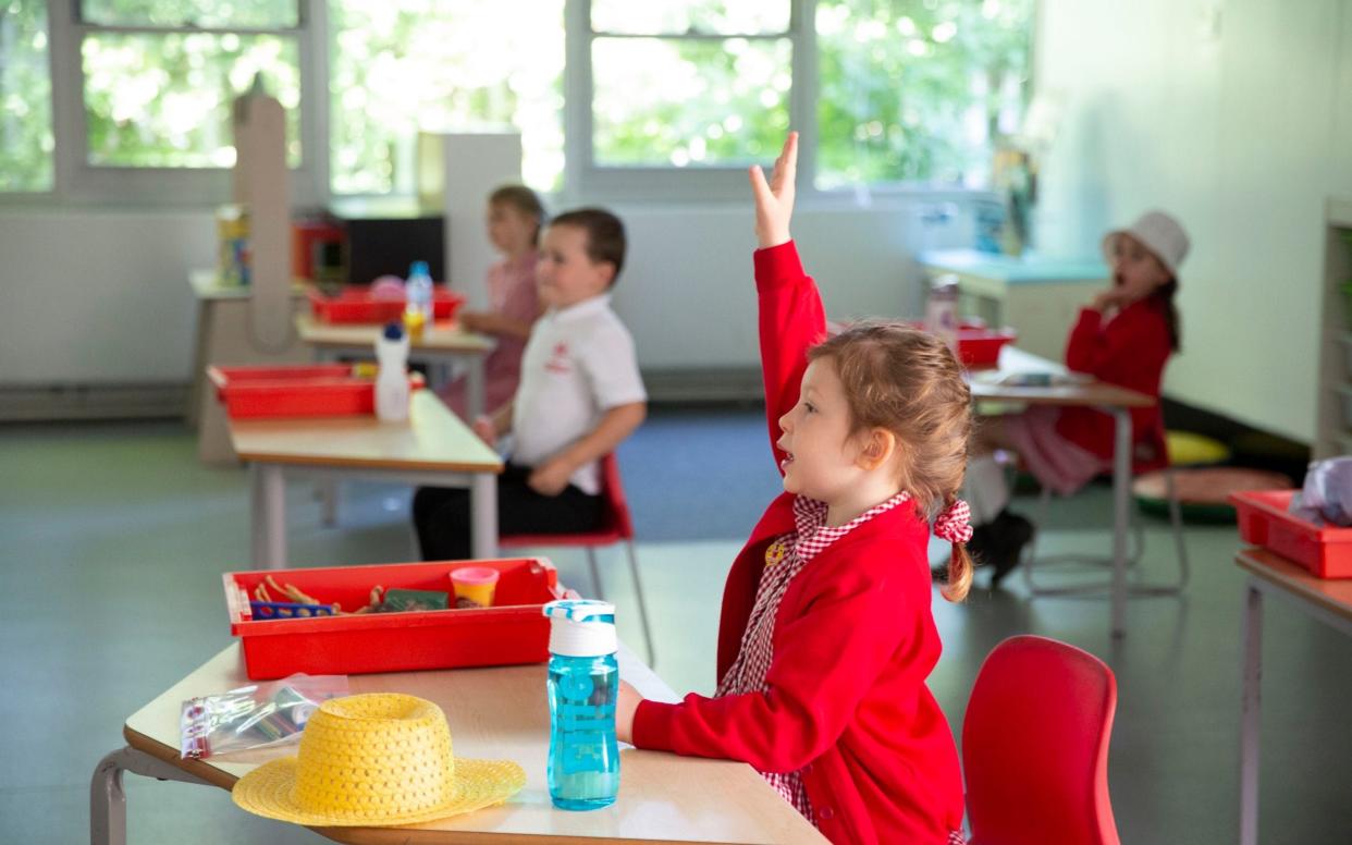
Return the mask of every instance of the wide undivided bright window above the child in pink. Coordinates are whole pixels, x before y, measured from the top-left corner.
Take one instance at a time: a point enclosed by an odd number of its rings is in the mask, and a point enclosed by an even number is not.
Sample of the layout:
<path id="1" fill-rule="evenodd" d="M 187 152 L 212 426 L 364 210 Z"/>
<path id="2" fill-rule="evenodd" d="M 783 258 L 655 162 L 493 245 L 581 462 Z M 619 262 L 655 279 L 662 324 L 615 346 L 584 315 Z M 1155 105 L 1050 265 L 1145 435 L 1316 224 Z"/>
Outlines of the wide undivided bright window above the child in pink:
<path id="1" fill-rule="evenodd" d="M 562 20 L 562 0 L 330 0 L 333 192 L 412 192 L 418 130 L 504 127 L 526 183 L 560 188 Z"/>

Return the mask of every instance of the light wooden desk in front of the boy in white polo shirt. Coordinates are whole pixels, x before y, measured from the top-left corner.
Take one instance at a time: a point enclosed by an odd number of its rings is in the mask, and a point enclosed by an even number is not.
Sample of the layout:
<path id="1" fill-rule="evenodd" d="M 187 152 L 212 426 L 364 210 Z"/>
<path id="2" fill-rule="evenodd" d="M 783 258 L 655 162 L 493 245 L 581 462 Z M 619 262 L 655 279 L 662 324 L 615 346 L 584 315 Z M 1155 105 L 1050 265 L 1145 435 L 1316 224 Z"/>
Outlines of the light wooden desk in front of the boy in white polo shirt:
<path id="1" fill-rule="evenodd" d="M 253 562 L 287 565 L 285 472 L 468 487 L 473 556 L 498 554 L 502 458 L 431 391 L 415 391 L 407 422 L 375 416 L 233 419 L 230 441 L 253 470 Z"/>

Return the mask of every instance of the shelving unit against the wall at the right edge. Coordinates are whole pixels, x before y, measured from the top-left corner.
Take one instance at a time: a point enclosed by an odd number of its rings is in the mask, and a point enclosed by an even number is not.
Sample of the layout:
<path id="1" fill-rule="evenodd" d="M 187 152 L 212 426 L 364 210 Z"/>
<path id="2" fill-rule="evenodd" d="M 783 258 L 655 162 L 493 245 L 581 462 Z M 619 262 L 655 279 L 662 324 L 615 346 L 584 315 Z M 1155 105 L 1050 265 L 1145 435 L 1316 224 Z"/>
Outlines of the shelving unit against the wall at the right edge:
<path id="1" fill-rule="evenodd" d="M 1352 414 L 1344 411 L 1344 404 L 1352 406 L 1352 304 L 1343 293 L 1343 285 L 1352 283 L 1352 197 L 1329 197 L 1324 219 L 1315 460 L 1352 454 Z"/>

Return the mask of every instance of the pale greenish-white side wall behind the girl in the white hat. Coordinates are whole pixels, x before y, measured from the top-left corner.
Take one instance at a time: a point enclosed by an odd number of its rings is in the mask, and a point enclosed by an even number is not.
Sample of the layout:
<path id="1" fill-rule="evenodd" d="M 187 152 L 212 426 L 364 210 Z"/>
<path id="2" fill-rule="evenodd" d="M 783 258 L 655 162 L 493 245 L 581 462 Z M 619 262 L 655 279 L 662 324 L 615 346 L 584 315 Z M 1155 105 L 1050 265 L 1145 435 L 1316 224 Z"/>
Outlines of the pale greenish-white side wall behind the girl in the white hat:
<path id="1" fill-rule="evenodd" d="M 1310 442 L 1324 199 L 1352 192 L 1352 3 L 1042 0 L 1068 101 L 1040 239 L 1083 254 L 1160 207 L 1192 237 L 1165 392 Z"/>

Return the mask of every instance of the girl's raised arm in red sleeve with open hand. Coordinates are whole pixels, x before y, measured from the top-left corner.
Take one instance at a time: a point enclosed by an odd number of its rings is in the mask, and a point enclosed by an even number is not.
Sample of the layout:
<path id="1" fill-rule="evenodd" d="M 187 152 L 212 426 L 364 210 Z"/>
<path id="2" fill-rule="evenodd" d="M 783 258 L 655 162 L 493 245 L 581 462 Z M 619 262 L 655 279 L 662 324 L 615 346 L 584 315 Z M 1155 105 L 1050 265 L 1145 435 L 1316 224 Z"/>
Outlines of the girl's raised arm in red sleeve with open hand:
<path id="1" fill-rule="evenodd" d="M 769 180 L 760 166 L 750 169 L 756 197 L 756 291 L 760 311 L 761 373 L 765 415 L 775 465 L 784 454 L 775 448 L 779 418 L 798 403 L 807 350 L 826 337 L 826 314 L 817 285 L 803 272 L 788 233 L 794 216 L 794 178 L 798 174 L 798 132 L 790 132 Z"/>

